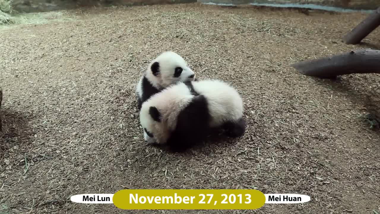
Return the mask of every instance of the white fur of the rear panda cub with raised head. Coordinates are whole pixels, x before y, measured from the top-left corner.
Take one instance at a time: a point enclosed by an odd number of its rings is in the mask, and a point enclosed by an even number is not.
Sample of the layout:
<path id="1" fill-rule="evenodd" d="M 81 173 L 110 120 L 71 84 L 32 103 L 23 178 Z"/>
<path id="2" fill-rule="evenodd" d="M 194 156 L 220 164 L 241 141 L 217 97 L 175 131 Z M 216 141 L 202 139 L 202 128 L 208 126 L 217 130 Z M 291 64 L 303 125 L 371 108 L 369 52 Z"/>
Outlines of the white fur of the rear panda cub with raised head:
<path id="1" fill-rule="evenodd" d="M 157 76 L 153 75 L 151 66 L 154 62 L 158 62 L 160 64 L 160 72 Z M 174 77 L 174 71 L 176 67 L 181 67 L 182 73 L 179 77 Z M 189 76 L 194 75 L 193 78 L 189 78 Z M 182 81 L 193 81 L 195 79 L 195 73 L 188 66 L 187 62 L 177 53 L 173 51 L 166 51 L 161 53 L 157 58 L 155 58 L 149 65 L 146 67 L 144 76 L 149 80 L 149 82 L 157 89 L 161 90 L 163 88 L 172 85 L 173 83 Z M 144 77 L 143 76 L 143 77 Z M 142 78 L 140 78 L 139 82 L 136 86 L 136 94 L 139 97 L 142 96 Z"/>

